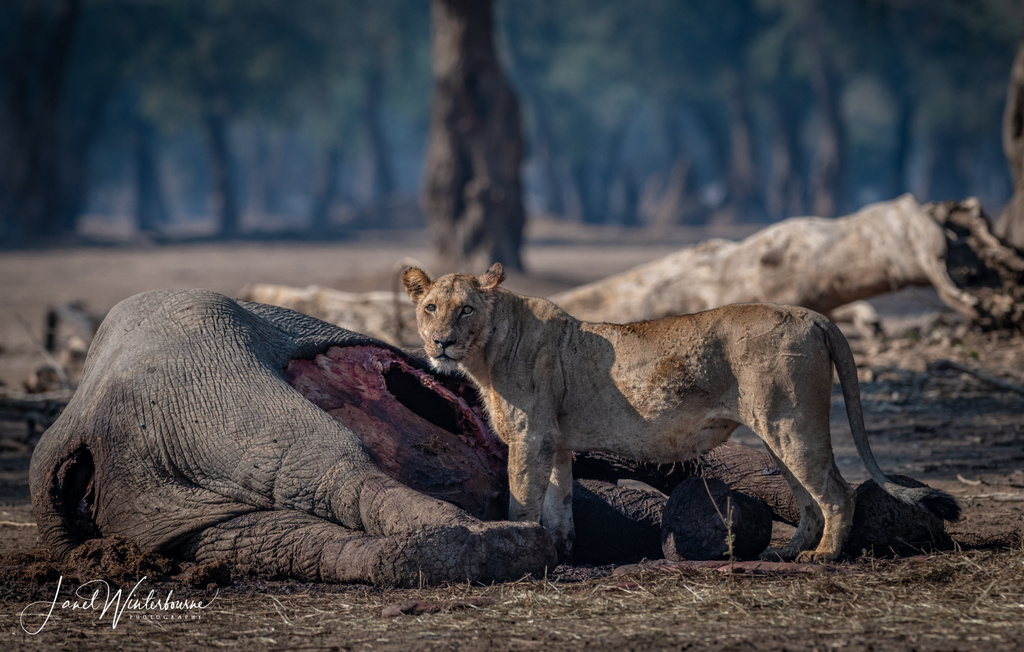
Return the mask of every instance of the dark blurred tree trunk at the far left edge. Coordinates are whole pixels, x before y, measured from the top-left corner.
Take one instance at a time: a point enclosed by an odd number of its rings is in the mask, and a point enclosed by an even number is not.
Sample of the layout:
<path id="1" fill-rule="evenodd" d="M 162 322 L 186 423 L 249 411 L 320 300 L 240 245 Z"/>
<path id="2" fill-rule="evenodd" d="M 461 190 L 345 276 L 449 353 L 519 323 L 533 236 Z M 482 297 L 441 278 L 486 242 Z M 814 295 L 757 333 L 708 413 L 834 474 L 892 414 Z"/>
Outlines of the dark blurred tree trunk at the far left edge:
<path id="1" fill-rule="evenodd" d="M 10 84 L 5 113 L 12 135 L 9 148 L 0 153 L 6 159 L 0 184 L 7 186 L 0 194 L 0 219 L 14 241 L 60 231 L 59 193 L 54 191 L 62 180 L 60 104 L 81 8 L 80 0 L 60 0 L 49 16 L 45 6 L 29 4 L 4 62 Z"/>

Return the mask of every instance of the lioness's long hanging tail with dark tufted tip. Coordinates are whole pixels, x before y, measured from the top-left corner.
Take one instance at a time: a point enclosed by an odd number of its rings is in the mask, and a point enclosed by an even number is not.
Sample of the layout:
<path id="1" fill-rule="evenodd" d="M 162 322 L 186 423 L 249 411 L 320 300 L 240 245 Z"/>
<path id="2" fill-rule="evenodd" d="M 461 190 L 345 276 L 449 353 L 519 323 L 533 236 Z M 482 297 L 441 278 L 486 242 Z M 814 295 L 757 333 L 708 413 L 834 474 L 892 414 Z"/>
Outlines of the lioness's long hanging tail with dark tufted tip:
<path id="1" fill-rule="evenodd" d="M 860 384 L 857 382 L 857 366 L 853 360 L 853 352 L 846 337 L 831 321 L 824 324 L 825 342 L 831 353 L 836 373 L 839 375 L 840 386 L 843 388 L 843 398 L 846 401 L 846 415 L 850 420 L 850 430 L 853 432 L 853 442 L 857 453 L 871 474 L 871 479 L 886 490 L 889 495 L 913 505 L 937 516 L 943 521 L 955 521 L 961 517 L 961 508 L 953 496 L 940 489 L 932 487 L 904 487 L 893 482 L 879 468 L 871 447 L 867 443 L 867 431 L 864 428 L 864 411 L 860 404 Z"/>

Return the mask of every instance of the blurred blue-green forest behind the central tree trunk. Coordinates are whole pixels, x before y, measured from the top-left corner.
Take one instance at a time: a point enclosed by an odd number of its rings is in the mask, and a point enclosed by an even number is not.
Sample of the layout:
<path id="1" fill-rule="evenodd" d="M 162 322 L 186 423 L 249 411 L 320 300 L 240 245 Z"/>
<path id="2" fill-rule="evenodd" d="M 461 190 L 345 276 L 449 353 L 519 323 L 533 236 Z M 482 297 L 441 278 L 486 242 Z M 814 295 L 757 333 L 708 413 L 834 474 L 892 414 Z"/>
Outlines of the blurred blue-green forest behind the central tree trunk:
<path id="1" fill-rule="evenodd" d="M 767 222 L 911 191 L 997 215 L 1013 192 L 1015 0 L 493 8 L 527 214 Z M 431 36 L 427 0 L 4 0 L 0 243 L 422 226 Z"/>

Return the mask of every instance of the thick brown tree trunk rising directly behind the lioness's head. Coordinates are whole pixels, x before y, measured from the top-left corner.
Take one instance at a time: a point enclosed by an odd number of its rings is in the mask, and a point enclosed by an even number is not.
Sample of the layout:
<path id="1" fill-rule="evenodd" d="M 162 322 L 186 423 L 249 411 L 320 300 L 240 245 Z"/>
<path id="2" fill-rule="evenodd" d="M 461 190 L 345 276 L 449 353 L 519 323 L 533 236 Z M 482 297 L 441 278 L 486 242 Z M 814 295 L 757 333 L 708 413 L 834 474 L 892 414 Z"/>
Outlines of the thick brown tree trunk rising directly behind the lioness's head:
<path id="1" fill-rule="evenodd" d="M 501 70 L 492 0 L 432 0 L 435 87 L 424 209 L 445 266 L 522 269 L 519 104 Z"/>

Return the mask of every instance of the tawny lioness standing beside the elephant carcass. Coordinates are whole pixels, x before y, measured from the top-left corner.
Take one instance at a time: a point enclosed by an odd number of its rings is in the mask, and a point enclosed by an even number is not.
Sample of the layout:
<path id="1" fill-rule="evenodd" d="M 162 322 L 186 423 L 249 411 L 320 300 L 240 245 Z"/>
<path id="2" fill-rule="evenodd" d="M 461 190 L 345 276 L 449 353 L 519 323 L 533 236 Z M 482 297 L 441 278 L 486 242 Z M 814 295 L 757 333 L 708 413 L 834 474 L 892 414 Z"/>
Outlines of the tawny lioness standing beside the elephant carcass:
<path id="1" fill-rule="evenodd" d="M 854 491 L 833 459 L 828 432 L 833 364 L 857 451 L 891 495 L 955 520 L 947 493 L 906 488 L 879 469 L 867 445 L 850 346 L 805 308 L 744 304 L 639 323 L 592 323 L 554 303 L 481 276 L 419 268 L 402 274 L 431 363 L 480 390 L 509 445 L 509 518 L 544 524 L 568 555 L 573 539 L 571 451 L 646 462 L 694 458 L 739 424 L 779 463 L 800 505 L 793 539 L 765 557 L 827 561 L 853 520 Z M 817 548 L 810 550 L 817 544 Z"/>

